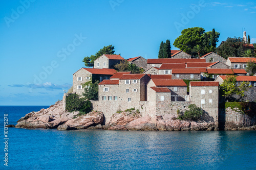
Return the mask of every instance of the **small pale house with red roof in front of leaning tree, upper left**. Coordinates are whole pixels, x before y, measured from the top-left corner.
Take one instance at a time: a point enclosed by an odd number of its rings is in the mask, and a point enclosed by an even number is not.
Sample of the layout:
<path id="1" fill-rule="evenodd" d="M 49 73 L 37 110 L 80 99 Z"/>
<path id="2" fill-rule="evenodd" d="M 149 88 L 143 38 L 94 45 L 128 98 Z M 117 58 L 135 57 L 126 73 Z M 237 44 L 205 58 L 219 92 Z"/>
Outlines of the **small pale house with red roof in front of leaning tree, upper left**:
<path id="1" fill-rule="evenodd" d="M 114 68 L 114 65 L 123 61 L 120 55 L 103 54 L 94 60 L 94 68 Z"/>

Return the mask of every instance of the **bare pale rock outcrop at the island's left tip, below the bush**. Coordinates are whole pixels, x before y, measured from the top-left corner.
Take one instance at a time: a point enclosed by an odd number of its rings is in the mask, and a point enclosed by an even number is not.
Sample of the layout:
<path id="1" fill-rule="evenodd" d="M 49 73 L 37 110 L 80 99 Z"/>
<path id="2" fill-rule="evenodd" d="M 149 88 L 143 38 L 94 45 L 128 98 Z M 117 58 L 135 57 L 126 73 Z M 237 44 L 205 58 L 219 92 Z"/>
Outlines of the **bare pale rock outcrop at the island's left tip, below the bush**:
<path id="1" fill-rule="evenodd" d="M 86 115 L 78 115 L 79 112 L 63 111 L 62 101 L 56 102 L 47 109 L 38 112 L 30 112 L 17 121 L 15 128 L 44 128 L 58 130 L 86 129 L 103 122 L 101 112 L 93 111 Z"/>

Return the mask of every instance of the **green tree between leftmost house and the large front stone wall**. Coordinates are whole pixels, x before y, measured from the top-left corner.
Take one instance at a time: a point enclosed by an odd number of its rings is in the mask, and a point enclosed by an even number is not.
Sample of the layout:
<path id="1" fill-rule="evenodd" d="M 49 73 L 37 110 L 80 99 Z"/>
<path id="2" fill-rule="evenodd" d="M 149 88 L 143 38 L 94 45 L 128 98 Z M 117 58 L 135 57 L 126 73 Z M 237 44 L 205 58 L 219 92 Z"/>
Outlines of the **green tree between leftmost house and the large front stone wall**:
<path id="1" fill-rule="evenodd" d="M 100 82 L 98 80 L 95 81 L 95 83 L 90 83 L 86 87 L 84 88 L 84 93 L 82 93 L 82 95 L 84 96 L 85 99 L 87 100 L 94 100 L 97 101 L 99 98 L 99 87 L 98 84 Z"/>

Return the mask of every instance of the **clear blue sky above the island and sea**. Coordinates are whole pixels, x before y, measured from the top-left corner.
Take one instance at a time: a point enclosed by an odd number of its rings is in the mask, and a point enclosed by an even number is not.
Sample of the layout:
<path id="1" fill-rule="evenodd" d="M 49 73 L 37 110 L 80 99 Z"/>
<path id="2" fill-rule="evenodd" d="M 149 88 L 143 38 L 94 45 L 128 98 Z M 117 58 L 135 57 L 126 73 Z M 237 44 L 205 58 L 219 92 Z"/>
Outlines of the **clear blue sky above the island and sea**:
<path id="1" fill-rule="evenodd" d="M 125 59 L 157 58 L 161 41 L 202 27 L 256 42 L 251 1 L 42 1 L 0 2 L 0 105 L 46 106 L 62 99 L 86 56 L 114 45 Z"/>

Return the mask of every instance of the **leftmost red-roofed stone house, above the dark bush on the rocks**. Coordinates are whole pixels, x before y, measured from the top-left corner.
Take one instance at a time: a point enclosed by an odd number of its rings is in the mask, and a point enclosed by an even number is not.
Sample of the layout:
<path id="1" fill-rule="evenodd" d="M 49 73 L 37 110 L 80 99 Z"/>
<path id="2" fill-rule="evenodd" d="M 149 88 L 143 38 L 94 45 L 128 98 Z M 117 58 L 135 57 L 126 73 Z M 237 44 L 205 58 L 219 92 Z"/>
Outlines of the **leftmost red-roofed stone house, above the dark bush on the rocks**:
<path id="1" fill-rule="evenodd" d="M 94 83 L 96 80 L 110 79 L 115 73 L 116 70 L 109 68 L 80 68 L 73 74 L 73 93 L 82 95 L 82 92 L 84 92 L 82 84 L 88 81 Z"/>

